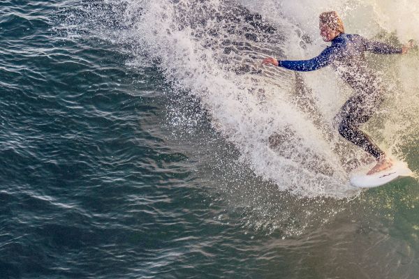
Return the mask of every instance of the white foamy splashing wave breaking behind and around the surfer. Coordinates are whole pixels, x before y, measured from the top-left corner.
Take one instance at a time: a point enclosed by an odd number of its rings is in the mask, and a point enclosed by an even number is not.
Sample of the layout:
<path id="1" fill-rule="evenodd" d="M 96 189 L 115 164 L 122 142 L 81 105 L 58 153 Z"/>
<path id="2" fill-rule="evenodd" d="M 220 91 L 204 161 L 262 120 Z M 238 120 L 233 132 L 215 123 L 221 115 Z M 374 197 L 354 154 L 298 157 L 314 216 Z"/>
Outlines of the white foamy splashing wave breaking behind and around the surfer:
<path id="1" fill-rule="evenodd" d="M 260 61 L 321 52 L 317 15 L 325 10 L 337 10 L 348 33 L 393 44 L 418 39 L 419 20 L 411 15 L 419 6 L 407 2 L 113 0 L 87 9 L 101 20 L 101 36 L 134 56 L 131 64 L 156 63 L 175 91 L 198 98 L 256 175 L 296 195 L 350 197 L 358 192 L 348 177 L 368 158 L 341 139 L 332 119 L 351 89 L 330 68 L 300 75 Z M 388 93 L 364 129 L 409 161 L 413 151 L 405 146 L 418 134 L 418 55 L 367 59 Z"/>

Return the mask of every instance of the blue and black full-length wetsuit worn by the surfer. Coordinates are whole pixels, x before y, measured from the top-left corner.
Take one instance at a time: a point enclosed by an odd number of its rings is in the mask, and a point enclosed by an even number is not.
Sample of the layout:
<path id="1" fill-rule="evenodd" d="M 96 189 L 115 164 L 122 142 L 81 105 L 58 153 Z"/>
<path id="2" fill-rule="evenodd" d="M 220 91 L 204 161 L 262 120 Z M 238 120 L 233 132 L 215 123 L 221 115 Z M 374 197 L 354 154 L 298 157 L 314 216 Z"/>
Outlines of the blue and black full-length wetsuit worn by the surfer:
<path id="1" fill-rule="evenodd" d="M 364 52 L 378 54 L 402 53 L 402 48 L 373 42 L 359 35 L 341 33 L 332 40 L 320 55 L 309 60 L 279 61 L 279 66 L 289 70 L 311 71 L 331 65 L 338 75 L 354 90 L 337 115 L 339 133 L 377 160 L 384 154 L 372 140 L 359 130 L 383 102 L 383 89 L 374 72 L 367 65 Z"/>

